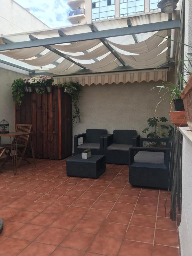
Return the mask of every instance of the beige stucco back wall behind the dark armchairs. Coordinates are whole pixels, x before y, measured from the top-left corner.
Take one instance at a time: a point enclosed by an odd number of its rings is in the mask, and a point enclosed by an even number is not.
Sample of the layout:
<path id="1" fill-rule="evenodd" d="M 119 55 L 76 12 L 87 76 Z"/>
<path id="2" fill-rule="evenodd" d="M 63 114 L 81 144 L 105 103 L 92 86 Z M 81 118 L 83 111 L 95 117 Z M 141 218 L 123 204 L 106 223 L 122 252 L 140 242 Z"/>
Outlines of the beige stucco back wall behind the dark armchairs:
<path id="1" fill-rule="evenodd" d="M 142 135 L 159 102 L 158 90 L 149 90 L 161 84 L 159 81 L 84 86 L 80 98 L 81 123 L 74 124 L 73 135 L 88 128 L 107 129 L 108 133 L 114 129 L 134 129 Z M 170 106 L 168 100 L 164 101 L 156 116 L 169 119 Z"/>

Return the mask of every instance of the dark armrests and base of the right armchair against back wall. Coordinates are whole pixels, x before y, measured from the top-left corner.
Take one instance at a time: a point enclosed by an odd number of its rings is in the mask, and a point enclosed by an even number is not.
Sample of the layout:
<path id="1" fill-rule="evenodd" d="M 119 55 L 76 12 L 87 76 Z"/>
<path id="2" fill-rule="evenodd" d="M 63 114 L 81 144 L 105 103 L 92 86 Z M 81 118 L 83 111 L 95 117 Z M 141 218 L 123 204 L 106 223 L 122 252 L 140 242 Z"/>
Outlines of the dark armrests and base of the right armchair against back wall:
<path id="1" fill-rule="evenodd" d="M 123 164 L 129 165 L 129 150 L 108 150 L 107 147 L 113 143 L 113 134 L 108 134 L 104 137 L 104 155 L 108 164 Z M 139 146 L 140 135 L 132 137 L 132 145 Z"/>

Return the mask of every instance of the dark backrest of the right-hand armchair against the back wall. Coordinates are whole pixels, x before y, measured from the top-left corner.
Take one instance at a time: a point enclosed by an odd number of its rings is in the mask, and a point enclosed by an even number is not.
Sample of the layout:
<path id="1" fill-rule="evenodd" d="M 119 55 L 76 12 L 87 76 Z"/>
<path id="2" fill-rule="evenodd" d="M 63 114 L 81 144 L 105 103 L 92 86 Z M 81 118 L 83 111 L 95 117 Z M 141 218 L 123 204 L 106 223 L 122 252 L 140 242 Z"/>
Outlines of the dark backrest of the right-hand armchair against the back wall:
<path id="1" fill-rule="evenodd" d="M 135 135 L 137 135 L 136 130 L 114 130 L 113 143 L 132 145 L 132 138 Z"/>

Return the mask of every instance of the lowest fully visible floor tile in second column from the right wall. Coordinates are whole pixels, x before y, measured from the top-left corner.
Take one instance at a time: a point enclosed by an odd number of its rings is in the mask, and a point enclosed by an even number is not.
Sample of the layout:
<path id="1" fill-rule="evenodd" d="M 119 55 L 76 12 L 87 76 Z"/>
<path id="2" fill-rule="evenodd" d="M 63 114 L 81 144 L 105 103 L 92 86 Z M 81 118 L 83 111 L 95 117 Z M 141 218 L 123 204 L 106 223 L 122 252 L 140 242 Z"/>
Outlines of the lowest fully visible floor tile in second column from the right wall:
<path id="1" fill-rule="evenodd" d="M 153 243 L 154 231 L 153 228 L 129 226 L 125 239 Z"/>

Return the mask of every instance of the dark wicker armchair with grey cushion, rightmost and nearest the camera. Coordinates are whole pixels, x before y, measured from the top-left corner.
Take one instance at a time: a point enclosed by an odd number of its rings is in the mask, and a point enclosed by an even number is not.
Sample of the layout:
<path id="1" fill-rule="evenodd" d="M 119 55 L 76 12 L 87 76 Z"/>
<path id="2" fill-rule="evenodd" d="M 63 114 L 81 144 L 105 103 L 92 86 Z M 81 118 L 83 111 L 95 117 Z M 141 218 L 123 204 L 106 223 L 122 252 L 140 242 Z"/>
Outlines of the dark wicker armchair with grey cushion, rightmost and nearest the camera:
<path id="1" fill-rule="evenodd" d="M 165 142 L 166 147 L 132 147 L 129 149 L 129 183 L 132 186 L 168 189 L 172 184 L 170 143 L 168 139 L 141 139 Z"/>

